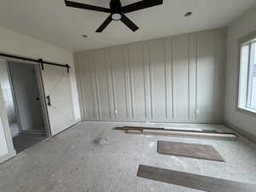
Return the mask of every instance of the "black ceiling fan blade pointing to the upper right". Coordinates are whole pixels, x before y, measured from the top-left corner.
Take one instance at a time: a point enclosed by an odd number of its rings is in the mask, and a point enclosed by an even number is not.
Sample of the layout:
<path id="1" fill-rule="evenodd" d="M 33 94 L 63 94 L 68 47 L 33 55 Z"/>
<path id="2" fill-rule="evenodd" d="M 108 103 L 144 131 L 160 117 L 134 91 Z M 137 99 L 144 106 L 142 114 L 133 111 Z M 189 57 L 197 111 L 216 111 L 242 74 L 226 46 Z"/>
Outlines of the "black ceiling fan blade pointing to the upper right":
<path id="1" fill-rule="evenodd" d="M 125 14 L 133 11 L 137 11 L 140 9 L 154 7 L 162 3 L 163 3 L 163 0 L 143 0 L 137 3 L 131 3 L 131 4 L 125 5 L 124 7 L 122 7 L 122 11 Z"/>

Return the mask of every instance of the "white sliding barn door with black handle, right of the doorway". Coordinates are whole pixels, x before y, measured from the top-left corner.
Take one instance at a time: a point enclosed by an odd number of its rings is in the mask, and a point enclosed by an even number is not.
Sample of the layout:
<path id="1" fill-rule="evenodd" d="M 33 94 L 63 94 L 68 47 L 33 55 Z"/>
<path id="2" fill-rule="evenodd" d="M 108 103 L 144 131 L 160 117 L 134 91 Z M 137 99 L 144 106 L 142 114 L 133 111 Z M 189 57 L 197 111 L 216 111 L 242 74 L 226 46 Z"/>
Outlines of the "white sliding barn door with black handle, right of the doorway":
<path id="1" fill-rule="evenodd" d="M 54 136 L 75 122 L 69 73 L 66 67 L 44 65 L 42 77 L 50 131 Z"/>

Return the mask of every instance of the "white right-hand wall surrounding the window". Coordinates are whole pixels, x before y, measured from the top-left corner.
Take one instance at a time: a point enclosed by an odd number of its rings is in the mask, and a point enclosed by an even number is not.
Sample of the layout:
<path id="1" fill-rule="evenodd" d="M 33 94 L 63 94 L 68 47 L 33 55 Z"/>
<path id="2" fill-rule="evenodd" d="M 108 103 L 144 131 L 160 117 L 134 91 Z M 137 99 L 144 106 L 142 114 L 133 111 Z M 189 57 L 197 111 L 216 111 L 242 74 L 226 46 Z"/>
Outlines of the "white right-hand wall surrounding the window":
<path id="1" fill-rule="evenodd" d="M 256 137 L 256 114 L 243 113 L 237 110 L 237 88 L 239 49 L 238 39 L 256 32 L 256 7 L 234 21 L 228 28 L 226 98 L 224 119 L 227 124 L 244 131 L 247 136 Z"/>

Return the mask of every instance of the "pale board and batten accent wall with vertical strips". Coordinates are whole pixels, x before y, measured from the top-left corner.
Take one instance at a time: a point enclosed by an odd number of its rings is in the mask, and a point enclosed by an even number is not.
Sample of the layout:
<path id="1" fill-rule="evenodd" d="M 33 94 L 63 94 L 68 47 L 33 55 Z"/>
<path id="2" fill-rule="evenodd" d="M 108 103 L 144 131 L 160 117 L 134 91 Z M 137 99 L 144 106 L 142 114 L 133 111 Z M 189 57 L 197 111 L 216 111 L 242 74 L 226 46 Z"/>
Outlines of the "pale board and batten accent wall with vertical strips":
<path id="1" fill-rule="evenodd" d="M 222 122 L 226 29 L 74 54 L 84 120 Z"/>

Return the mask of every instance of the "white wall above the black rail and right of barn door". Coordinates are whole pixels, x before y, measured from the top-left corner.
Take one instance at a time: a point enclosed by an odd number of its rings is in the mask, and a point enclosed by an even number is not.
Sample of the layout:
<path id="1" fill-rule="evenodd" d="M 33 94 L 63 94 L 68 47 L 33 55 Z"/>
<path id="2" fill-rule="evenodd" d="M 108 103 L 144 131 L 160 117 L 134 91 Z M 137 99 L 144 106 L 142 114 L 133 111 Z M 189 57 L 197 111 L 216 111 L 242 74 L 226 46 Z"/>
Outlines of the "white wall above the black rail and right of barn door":
<path id="1" fill-rule="evenodd" d="M 42 58 L 45 61 L 68 63 L 71 65 L 70 81 L 72 85 L 73 108 L 75 119 L 80 119 L 79 98 L 74 71 L 73 53 L 34 38 L 21 35 L 0 27 L 0 52 Z"/>

